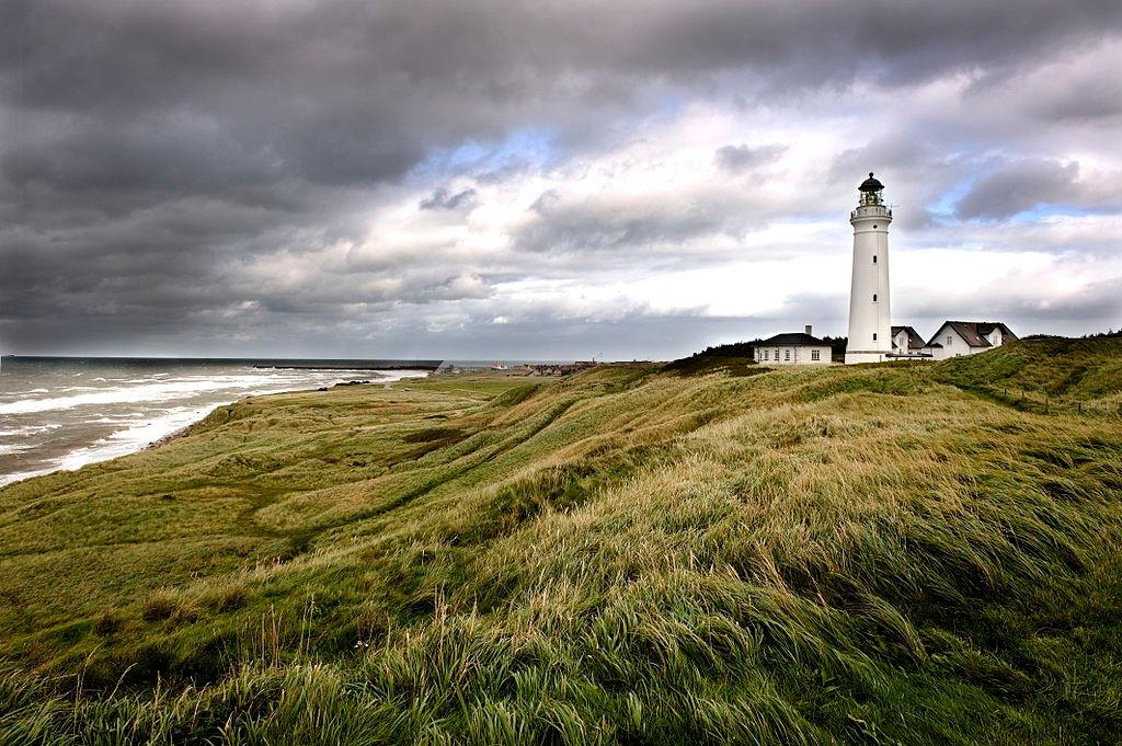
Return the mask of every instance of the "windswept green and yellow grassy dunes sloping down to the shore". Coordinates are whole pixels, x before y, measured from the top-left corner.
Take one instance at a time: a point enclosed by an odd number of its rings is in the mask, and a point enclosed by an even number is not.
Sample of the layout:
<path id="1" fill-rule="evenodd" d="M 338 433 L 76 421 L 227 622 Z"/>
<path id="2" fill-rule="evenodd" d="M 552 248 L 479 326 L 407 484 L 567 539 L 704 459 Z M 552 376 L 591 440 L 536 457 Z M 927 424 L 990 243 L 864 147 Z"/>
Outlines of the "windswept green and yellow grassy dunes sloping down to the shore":
<path id="1" fill-rule="evenodd" d="M 255 397 L 0 489 L 0 743 L 1115 743 L 1118 340 L 716 368 Z"/>

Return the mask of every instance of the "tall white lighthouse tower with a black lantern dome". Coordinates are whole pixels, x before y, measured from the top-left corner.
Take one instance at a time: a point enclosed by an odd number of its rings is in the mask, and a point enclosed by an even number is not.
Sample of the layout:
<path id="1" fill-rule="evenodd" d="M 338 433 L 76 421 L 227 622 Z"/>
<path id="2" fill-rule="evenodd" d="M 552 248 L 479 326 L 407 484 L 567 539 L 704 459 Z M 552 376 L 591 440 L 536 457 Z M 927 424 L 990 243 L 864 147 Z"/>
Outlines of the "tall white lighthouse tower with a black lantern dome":
<path id="1" fill-rule="evenodd" d="M 857 187 L 861 200 L 849 213 L 853 225 L 853 284 L 849 288 L 847 365 L 881 362 L 892 353 L 892 313 L 889 305 L 889 223 L 884 184 L 873 174 Z"/>

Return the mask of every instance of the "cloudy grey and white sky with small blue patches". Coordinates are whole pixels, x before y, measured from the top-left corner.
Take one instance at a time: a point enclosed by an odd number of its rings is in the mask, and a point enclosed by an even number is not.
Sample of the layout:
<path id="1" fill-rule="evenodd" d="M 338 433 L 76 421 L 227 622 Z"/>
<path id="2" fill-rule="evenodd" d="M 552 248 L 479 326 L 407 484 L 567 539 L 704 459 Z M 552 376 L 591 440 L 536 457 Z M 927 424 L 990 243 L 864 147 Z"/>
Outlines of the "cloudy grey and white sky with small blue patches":
<path id="1" fill-rule="evenodd" d="M 1122 326 L 1122 3 L 3 0 L 0 352 Z"/>

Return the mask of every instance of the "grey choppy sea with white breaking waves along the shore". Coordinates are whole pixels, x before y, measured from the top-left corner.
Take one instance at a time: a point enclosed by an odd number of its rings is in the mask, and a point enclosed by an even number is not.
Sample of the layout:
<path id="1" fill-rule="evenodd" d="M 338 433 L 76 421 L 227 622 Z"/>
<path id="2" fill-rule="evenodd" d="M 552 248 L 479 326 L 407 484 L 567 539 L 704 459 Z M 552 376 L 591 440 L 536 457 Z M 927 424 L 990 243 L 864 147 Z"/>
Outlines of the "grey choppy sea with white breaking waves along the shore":
<path id="1" fill-rule="evenodd" d="M 427 376 L 440 360 L 0 359 L 0 486 L 132 453 L 246 396 Z"/>

